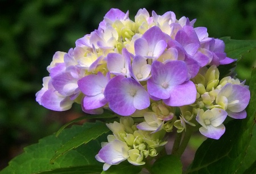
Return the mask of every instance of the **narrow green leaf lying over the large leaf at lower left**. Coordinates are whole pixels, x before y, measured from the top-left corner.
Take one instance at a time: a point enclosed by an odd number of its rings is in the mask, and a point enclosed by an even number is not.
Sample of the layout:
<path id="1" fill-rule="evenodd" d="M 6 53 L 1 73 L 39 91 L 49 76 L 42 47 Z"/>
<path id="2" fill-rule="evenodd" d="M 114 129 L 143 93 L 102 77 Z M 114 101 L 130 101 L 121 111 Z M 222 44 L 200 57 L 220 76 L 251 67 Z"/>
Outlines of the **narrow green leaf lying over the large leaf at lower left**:
<path id="1" fill-rule="evenodd" d="M 55 155 L 51 159 L 51 163 L 59 158 L 61 155 L 64 155 L 66 152 L 72 150 L 73 148 L 77 148 L 82 144 L 86 144 L 90 142 L 90 140 L 98 138 L 98 136 L 109 131 L 109 128 L 105 123 L 97 123 L 93 127 L 81 131 L 79 134 L 74 136 L 71 140 L 63 144 L 59 150 L 56 151 Z"/>

